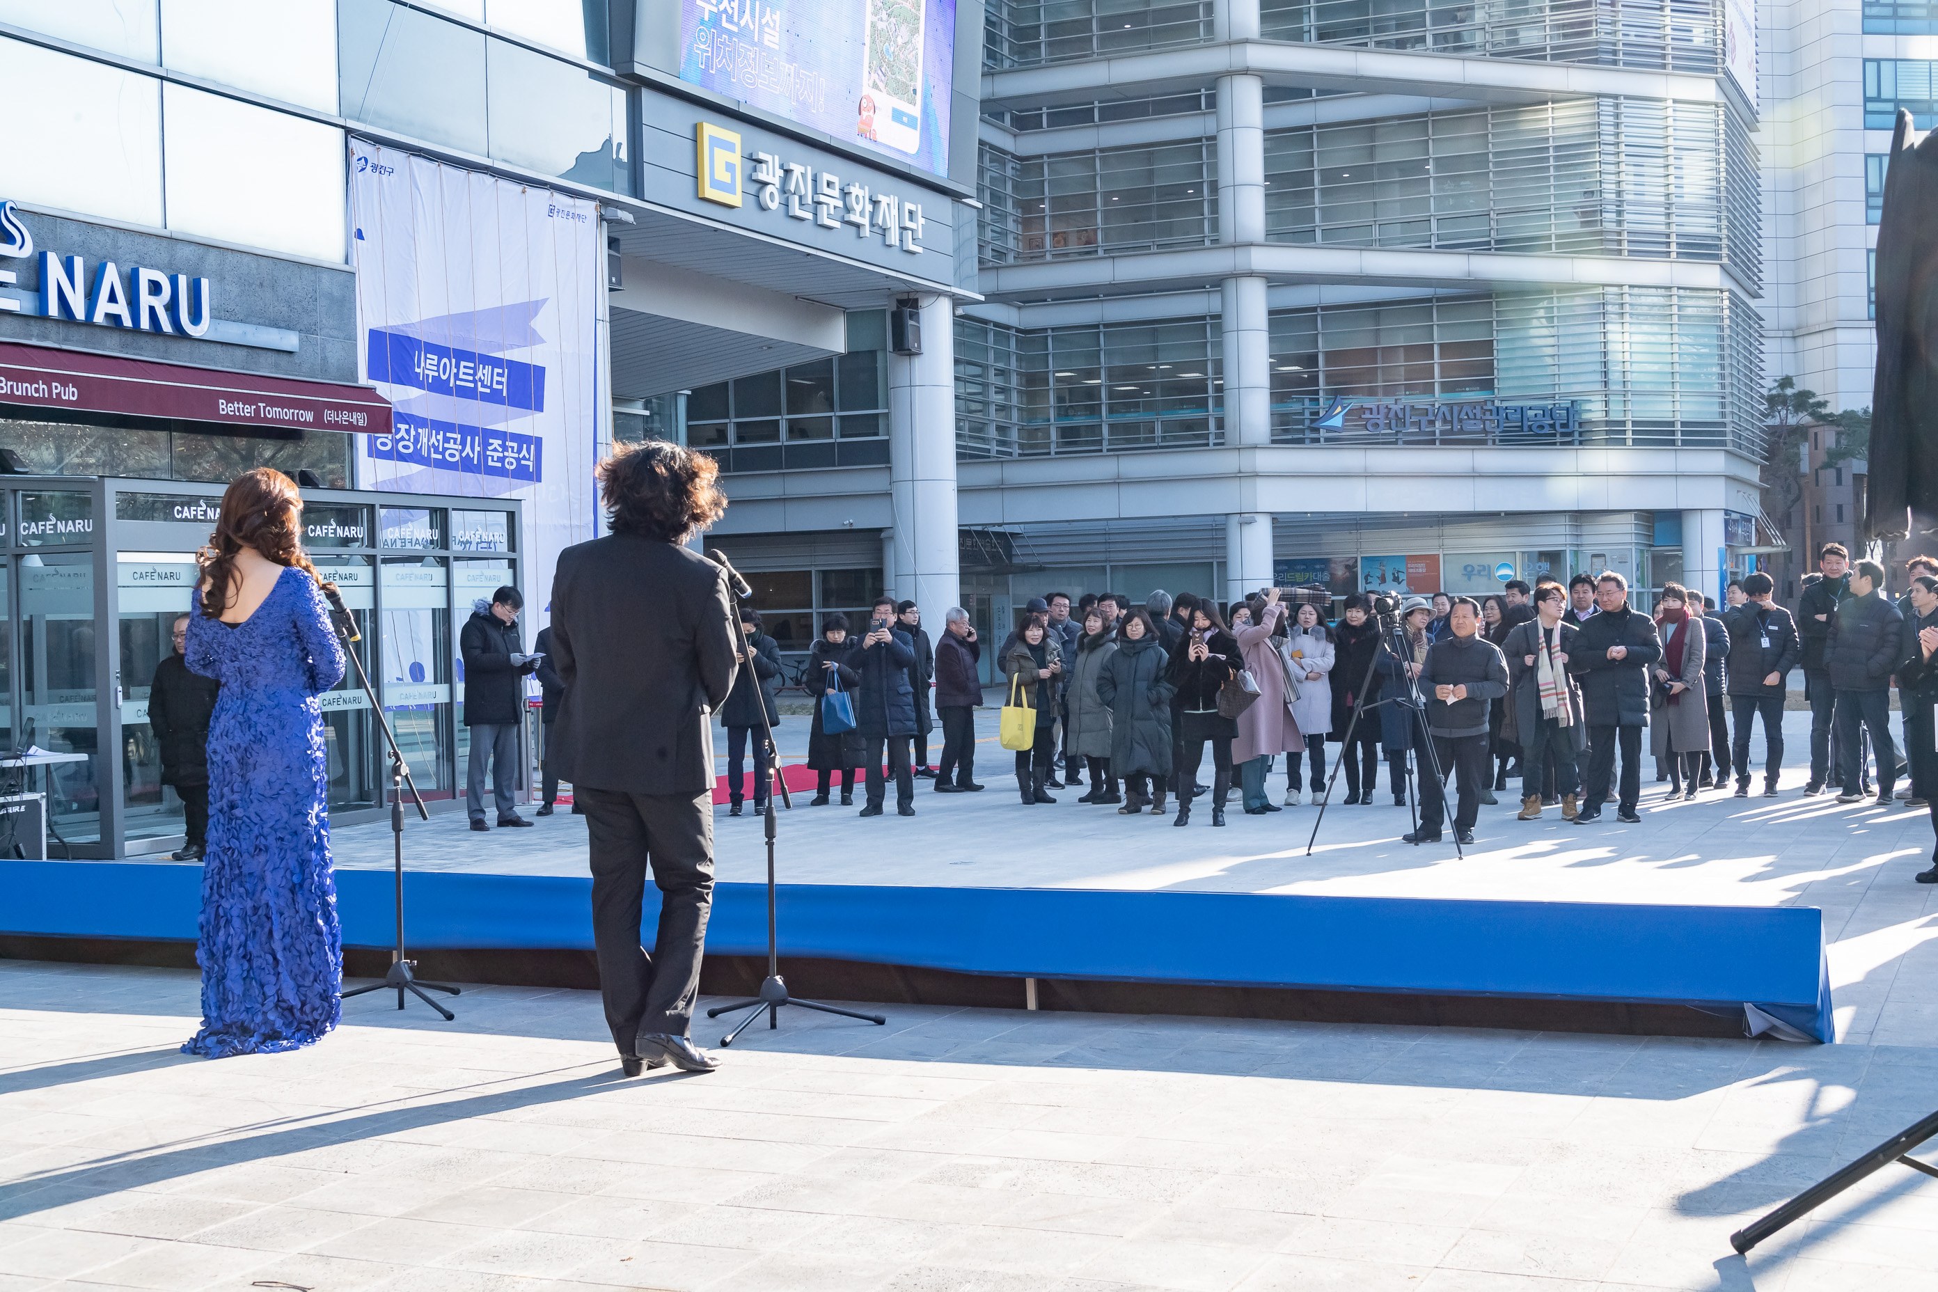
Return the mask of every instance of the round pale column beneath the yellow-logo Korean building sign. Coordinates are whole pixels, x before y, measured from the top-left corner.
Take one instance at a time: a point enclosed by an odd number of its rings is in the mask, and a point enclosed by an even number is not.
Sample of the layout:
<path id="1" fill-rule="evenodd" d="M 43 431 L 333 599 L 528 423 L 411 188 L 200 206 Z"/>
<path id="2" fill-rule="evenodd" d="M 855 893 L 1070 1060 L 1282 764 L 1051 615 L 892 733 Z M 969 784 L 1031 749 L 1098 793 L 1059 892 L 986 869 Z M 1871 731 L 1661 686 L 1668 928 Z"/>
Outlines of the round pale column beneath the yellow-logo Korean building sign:
<path id="1" fill-rule="evenodd" d="M 882 577 L 922 608 L 930 635 L 961 602 L 955 537 L 955 310 L 922 298 L 922 353 L 888 356 L 888 477 L 895 523 Z M 890 556 L 893 552 L 893 556 Z"/>

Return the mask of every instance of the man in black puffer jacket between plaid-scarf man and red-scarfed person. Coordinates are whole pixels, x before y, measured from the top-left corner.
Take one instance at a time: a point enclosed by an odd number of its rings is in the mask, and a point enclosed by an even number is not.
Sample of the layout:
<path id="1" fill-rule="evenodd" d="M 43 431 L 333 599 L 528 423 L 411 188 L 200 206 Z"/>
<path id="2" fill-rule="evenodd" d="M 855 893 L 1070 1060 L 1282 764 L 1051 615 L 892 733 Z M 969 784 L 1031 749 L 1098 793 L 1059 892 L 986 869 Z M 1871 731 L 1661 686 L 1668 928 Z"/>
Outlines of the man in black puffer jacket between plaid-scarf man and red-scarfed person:
<path id="1" fill-rule="evenodd" d="M 1649 668 L 1663 659 L 1655 620 L 1628 606 L 1628 579 L 1612 569 L 1595 581 L 1601 608 L 1581 624 L 1568 672 L 1581 680 L 1581 707 L 1587 713 L 1587 783 L 1576 825 L 1601 821 L 1614 775 L 1614 752 L 1622 750 L 1622 786 L 1616 819 L 1636 825 L 1641 800 L 1641 730 L 1649 724 Z M 1610 655 L 1614 651 L 1614 655 Z"/>

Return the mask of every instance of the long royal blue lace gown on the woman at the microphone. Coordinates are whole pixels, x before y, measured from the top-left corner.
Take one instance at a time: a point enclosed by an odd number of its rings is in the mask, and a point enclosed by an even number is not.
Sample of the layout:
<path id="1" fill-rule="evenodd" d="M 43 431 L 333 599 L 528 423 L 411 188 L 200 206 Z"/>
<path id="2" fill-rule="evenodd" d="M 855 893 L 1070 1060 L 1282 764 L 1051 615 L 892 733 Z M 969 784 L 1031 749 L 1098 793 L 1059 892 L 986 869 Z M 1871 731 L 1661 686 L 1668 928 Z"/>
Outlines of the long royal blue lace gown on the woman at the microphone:
<path id="1" fill-rule="evenodd" d="M 203 616 L 198 591 L 188 666 L 223 690 L 209 721 L 202 1031 L 182 1052 L 295 1050 L 339 1017 L 343 936 L 316 697 L 343 678 L 343 647 L 316 581 L 289 568 L 242 624 Z"/>

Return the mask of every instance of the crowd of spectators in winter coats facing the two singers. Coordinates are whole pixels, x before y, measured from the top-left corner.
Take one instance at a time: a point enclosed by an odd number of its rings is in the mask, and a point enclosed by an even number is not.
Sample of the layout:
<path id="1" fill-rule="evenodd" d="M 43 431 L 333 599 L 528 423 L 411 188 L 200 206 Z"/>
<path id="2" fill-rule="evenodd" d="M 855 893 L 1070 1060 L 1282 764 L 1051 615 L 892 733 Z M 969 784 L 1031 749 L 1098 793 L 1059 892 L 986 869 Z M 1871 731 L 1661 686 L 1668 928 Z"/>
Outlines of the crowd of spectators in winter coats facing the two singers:
<path id="1" fill-rule="evenodd" d="M 1909 591 L 1891 602 L 1880 566 L 1853 564 L 1828 544 L 1795 614 L 1775 604 L 1766 573 L 1733 579 L 1721 608 L 1667 583 L 1647 614 L 1630 604 L 1620 573 L 1603 571 L 1568 585 L 1514 579 L 1485 599 L 1407 597 L 1397 624 L 1386 626 L 1366 595 L 1347 597 L 1331 622 L 1328 597 L 1293 593 L 1289 602 L 1281 589 L 1229 604 L 1163 591 L 1143 604 L 1116 593 L 1050 593 L 1027 604 L 996 649 L 994 676 L 1006 707 L 1031 711 L 1025 734 L 1008 742 L 1027 806 L 1083 788 L 1078 802 L 1188 825 L 1194 800 L 1209 796 L 1211 825 L 1225 825 L 1235 790 L 1248 815 L 1306 794 L 1320 802 L 1331 742 L 1343 804 L 1376 802 L 1382 763 L 1391 802 L 1419 804 L 1409 843 L 1444 839 L 1450 784 L 1452 829 L 1471 841 L 1479 810 L 1498 804 L 1516 777 L 1517 819 L 1560 808 L 1564 819 L 1591 825 L 1612 802 L 1614 819 L 1634 823 L 1643 732 L 1655 779 L 1672 798 L 1731 784 L 1748 798 L 1762 721 L 1762 794 L 1775 796 L 1783 701 L 1798 666 L 1812 711 L 1802 792 L 1924 806 L 1938 761 L 1938 560 L 1915 558 L 1907 575 Z M 781 672 L 760 616 L 740 618 L 752 670 L 742 670 L 723 715 L 733 815 L 742 802 L 738 752 L 760 719 L 752 705 L 764 701 L 775 717 Z M 969 614 L 948 610 L 930 641 L 915 602 L 884 597 L 866 630 L 851 633 L 843 616 L 828 616 L 810 653 L 812 804 L 828 804 L 839 777 L 841 804 L 853 806 L 857 773 L 862 815 L 886 810 L 890 777 L 901 815 L 915 815 L 919 781 L 942 794 L 983 790 L 975 709 L 985 643 Z M 1905 697 L 1903 763 L 1888 721 L 1891 686 Z M 847 730 L 824 723 L 820 699 L 835 692 L 853 707 Z M 936 724 L 940 757 L 930 765 Z M 1283 796 L 1267 786 L 1279 767 Z M 1901 775 L 1909 786 L 1893 796 Z M 756 814 L 766 796 L 756 769 Z M 1919 877 L 1938 881 L 1938 866 Z"/>

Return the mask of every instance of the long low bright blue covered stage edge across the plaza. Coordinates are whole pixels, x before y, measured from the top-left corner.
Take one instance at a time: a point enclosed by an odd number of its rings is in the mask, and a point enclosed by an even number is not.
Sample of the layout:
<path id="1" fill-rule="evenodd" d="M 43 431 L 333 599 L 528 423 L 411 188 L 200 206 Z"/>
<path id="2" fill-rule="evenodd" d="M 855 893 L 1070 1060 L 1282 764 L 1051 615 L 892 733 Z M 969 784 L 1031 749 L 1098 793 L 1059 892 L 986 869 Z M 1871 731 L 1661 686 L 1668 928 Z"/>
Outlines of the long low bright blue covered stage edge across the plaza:
<path id="1" fill-rule="evenodd" d="M 393 877 L 339 870 L 343 941 L 391 943 Z M 589 949 L 591 879 L 405 876 L 413 947 Z M 0 860 L 0 932 L 194 939 L 202 868 Z M 651 889 L 647 889 L 651 893 Z M 1814 907 L 781 885 L 781 953 L 1016 978 L 1754 1005 L 1831 1040 Z M 655 912 L 645 926 L 653 928 Z M 766 889 L 715 887 L 707 949 L 766 955 Z"/>

